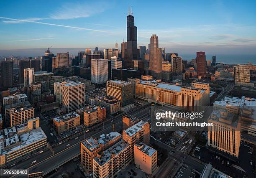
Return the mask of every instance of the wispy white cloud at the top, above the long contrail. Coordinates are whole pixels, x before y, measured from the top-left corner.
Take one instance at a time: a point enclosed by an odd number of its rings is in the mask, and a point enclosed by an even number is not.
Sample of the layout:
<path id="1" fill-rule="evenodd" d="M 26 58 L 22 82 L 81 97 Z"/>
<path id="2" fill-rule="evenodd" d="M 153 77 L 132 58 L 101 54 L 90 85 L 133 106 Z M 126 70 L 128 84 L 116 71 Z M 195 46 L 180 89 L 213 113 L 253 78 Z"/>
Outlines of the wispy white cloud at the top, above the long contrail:
<path id="1" fill-rule="evenodd" d="M 92 15 L 102 13 L 109 7 L 108 3 L 65 3 L 55 10 L 55 13 L 50 15 L 53 19 L 73 19 L 73 18 L 87 18 Z"/>

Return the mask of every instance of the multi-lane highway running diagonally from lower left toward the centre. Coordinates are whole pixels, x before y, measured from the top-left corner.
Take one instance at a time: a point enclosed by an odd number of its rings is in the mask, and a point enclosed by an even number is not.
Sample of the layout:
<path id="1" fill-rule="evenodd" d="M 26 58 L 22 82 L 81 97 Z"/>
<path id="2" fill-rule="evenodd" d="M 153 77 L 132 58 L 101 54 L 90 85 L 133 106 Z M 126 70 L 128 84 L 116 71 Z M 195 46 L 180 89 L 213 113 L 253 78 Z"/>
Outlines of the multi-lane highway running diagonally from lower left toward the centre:
<path id="1" fill-rule="evenodd" d="M 148 119 L 150 107 L 141 107 L 136 110 L 129 112 L 135 117 L 140 119 Z M 124 114 L 122 114 L 123 116 Z M 29 169 L 29 173 L 36 173 L 43 171 L 44 175 L 51 172 L 55 168 L 63 165 L 67 161 L 75 158 L 77 155 L 80 154 L 80 142 L 83 141 L 85 138 L 88 137 L 98 137 L 102 134 L 107 134 L 112 131 L 112 124 L 115 123 L 115 130 L 117 132 L 122 130 L 122 116 L 118 116 L 112 118 L 110 120 L 106 120 L 104 122 L 104 129 L 103 123 L 95 125 L 90 128 L 89 132 L 80 132 L 76 135 L 70 137 L 68 140 L 61 141 L 56 145 L 52 145 L 52 149 L 46 148 L 44 149 L 43 153 L 37 153 L 31 155 L 28 160 L 23 160 L 20 163 L 16 163 L 15 166 L 11 167 L 11 169 Z M 113 122 L 111 122 L 113 120 Z M 92 132 L 93 130 L 93 132 Z M 75 139 L 77 138 L 78 139 Z M 53 150 L 53 152 L 52 152 Z M 54 154 L 53 154 L 54 153 Z M 53 155 L 52 155 L 53 154 Z M 32 162 L 36 160 L 36 163 L 32 165 Z M 15 176 L 18 177 L 18 176 Z"/>

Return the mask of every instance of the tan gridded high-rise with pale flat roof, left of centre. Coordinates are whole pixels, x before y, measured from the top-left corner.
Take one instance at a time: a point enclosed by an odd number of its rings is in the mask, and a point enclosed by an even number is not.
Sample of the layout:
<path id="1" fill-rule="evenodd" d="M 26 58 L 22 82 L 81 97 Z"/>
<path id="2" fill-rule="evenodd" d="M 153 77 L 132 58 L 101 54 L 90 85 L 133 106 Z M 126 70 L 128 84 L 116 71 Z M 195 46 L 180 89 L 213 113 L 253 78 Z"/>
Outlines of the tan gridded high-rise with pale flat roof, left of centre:
<path id="1" fill-rule="evenodd" d="M 62 86 L 62 106 L 67 112 L 84 107 L 84 84 L 79 81 L 69 81 Z"/>

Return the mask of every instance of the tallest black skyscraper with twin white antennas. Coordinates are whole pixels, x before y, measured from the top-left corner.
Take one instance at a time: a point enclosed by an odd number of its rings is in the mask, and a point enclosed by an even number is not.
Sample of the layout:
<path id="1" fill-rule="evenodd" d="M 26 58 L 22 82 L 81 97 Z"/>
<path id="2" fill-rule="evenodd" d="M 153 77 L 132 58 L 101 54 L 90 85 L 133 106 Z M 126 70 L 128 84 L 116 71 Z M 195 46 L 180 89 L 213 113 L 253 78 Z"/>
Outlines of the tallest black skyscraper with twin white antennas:
<path id="1" fill-rule="evenodd" d="M 129 7 L 127 15 L 127 49 L 125 50 L 125 68 L 133 68 L 133 60 L 139 59 L 137 48 L 137 27 L 134 26 L 133 10 Z"/>

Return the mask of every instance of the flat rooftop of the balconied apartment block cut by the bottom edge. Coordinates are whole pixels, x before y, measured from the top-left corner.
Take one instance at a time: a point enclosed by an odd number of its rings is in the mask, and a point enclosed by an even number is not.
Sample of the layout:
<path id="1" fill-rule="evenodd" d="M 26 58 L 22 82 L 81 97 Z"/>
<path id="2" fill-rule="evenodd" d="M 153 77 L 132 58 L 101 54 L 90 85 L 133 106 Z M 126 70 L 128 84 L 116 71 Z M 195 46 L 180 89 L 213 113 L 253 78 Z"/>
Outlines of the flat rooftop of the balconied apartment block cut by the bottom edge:
<path id="1" fill-rule="evenodd" d="M 109 160 L 112 159 L 111 155 L 118 155 L 120 152 L 122 152 L 123 150 L 125 150 L 125 148 L 129 147 L 130 145 L 126 142 L 124 142 L 123 140 L 120 142 L 117 142 L 115 145 L 113 145 L 112 147 L 108 148 L 107 150 L 104 151 L 104 153 L 101 155 L 100 158 L 95 157 L 94 160 L 96 160 L 96 162 L 99 165 L 104 165 L 105 163 L 107 163 Z"/>

